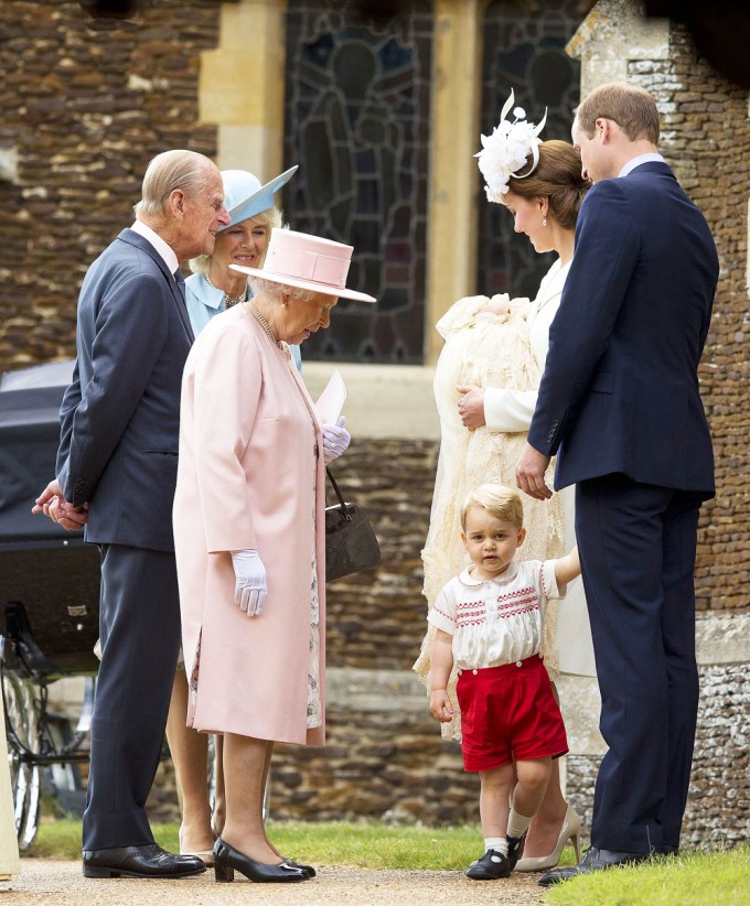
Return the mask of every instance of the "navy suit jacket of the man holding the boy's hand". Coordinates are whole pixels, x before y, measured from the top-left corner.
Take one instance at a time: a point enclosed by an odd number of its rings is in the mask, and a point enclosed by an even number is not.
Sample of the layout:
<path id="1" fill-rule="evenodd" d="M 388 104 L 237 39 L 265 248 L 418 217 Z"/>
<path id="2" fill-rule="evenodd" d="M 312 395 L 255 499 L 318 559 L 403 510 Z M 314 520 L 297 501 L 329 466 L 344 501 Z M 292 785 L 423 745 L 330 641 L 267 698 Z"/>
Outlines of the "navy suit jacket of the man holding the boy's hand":
<path id="1" fill-rule="evenodd" d="M 718 280 L 706 220 L 662 162 L 588 193 L 528 441 L 557 488 L 611 473 L 714 494 L 698 363 Z"/>

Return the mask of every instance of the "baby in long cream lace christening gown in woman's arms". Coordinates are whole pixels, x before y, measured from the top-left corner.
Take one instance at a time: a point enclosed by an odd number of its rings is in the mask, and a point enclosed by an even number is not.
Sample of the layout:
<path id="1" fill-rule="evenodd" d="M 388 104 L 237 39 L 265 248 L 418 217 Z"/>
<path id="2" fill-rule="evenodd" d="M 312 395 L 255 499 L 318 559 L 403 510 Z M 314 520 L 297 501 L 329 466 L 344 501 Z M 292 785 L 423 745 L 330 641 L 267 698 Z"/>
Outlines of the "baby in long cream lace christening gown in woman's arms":
<path id="1" fill-rule="evenodd" d="M 511 300 L 507 294 L 488 299 L 473 295 L 460 299 L 437 323 L 444 338 L 435 370 L 435 400 L 440 416 L 440 455 L 432 497 L 430 526 L 422 550 L 428 611 L 443 585 L 467 565 L 469 557 L 461 543 L 461 501 L 473 488 L 485 482 L 515 487 L 515 464 L 526 443 L 526 432 L 490 432 L 486 425 L 469 431 L 459 416 L 460 386 L 499 387 L 511 390 L 536 390 L 542 375 L 529 339 L 526 316 L 528 299 Z M 547 473 L 551 485 L 554 463 Z M 564 552 L 561 504 L 551 500 L 524 501 L 526 540 L 518 560 L 547 560 Z M 555 630 L 557 605 L 550 603 L 545 618 L 542 652 L 554 680 L 558 676 Z M 414 670 L 429 684 L 430 645 L 435 629 L 428 628 Z M 456 697 L 456 671 L 448 686 Z M 456 707 L 452 721 L 441 724 L 447 740 L 461 738 L 461 715 Z"/>

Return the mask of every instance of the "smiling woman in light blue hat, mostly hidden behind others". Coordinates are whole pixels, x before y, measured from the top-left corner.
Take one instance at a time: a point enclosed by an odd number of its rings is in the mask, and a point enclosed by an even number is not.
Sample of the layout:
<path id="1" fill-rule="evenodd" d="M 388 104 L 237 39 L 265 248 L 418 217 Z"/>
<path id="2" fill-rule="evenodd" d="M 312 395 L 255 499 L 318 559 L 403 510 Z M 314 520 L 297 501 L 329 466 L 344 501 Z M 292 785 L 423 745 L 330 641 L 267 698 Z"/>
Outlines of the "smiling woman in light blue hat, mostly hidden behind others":
<path id="1" fill-rule="evenodd" d="M 191 260 L 193 273 L 185 280 L 185 302 L 195 336 L 212 317 L 253 295 L 247 274 L 232 270 L 229 265 L 262 267 L 271 229 L 281 226 L 281 212 L 276 207 L 274 196 L 296 170 L 297 166 L 292 166 L 265 185 L 246 170 L 222 171 L 224 205 L 229 213 L 229 224 L 216 234 L 211 255 Z M 299 346 L 290 346 L 290 349 L 299 368 Z M 221 831 L 224 815 L 222 758 L 214 759 L 217 776 L 212 820 L 206 794 L 208 736 L 185 726 L 186 712 L 188 683 L 181 667 L 174 679 L 167 723 L 167 738 L 182 811 L 180 851 L 194 853 L 211 865 L 214 834 Z M 215 742 L 221 747 L 221 737 L 215 737 Z"/>

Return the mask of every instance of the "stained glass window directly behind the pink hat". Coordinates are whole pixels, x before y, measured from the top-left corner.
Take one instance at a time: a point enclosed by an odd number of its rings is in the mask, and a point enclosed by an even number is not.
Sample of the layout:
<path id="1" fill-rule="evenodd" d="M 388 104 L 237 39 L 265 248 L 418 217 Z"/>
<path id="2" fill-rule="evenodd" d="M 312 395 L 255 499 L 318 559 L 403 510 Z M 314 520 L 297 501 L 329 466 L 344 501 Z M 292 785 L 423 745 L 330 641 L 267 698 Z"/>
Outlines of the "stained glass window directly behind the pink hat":
<path id="1" fill-rule="evenodd" d="M 306 359 L 421 363 L 432 3 L 290 0 L 283 195 L 292 229 L 354 246 L 342 299 Z M 385 7 L 381 7 L 381 10 Z"/>

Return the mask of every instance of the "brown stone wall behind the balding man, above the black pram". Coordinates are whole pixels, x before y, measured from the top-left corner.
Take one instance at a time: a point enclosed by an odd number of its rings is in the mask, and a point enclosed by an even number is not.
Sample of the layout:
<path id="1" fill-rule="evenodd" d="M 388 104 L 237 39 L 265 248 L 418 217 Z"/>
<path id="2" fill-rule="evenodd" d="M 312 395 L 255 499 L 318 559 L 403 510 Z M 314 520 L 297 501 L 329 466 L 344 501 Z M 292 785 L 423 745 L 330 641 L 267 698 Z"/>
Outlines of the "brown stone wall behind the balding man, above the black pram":
<path id="1" fill-rule="evenodd" d="M 74 354 L 83 274 L 132 223 L 148 161 L 215 153 L 197 75 L 219 7 L 159 0 L 133 26 L 69 0 L 0 6 L 0 370 Z"/>

